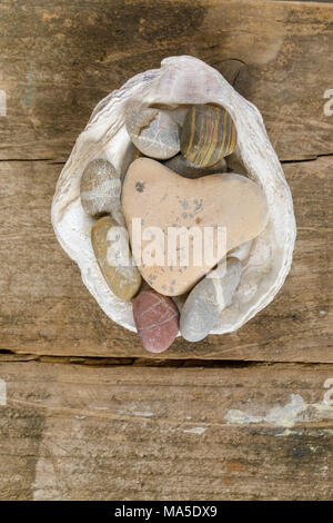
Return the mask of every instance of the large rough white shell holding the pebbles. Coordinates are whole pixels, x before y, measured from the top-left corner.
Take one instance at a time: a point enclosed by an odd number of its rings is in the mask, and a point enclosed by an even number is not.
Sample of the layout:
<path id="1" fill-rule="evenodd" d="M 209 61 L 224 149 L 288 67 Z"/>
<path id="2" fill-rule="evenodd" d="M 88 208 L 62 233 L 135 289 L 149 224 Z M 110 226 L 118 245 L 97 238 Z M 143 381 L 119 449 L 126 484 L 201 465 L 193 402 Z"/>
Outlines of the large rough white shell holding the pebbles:
<path id="1" fill-rule="evenodd" d="M 104 313 L 135 330 L 132 304 L 114 296 L 100 272 L 90 239 L 94 220 L 80 200 L 80 179 L 89 161 L 105 158 L 121 175 L 125 172 L 134 149 L 124 117 L 127 105 L 133 100 L 170 110 L 215 103 L 224 107 L 235 122 L 238 147 L 233 159 L 263 188 L 270 218 L 251 245 L 232 304 L 221 313 L 211 334 L 234 332 L 269 305 L 282 287 L 292 263 L 296 227 L 292 196 L 260 111 L 203 61 L 188 56 L 167 58 L 160 69 L 137 75 L 100 101 L 57 184 L 52 203 L 57 238 L 79 265 L 84 285 Z"/>

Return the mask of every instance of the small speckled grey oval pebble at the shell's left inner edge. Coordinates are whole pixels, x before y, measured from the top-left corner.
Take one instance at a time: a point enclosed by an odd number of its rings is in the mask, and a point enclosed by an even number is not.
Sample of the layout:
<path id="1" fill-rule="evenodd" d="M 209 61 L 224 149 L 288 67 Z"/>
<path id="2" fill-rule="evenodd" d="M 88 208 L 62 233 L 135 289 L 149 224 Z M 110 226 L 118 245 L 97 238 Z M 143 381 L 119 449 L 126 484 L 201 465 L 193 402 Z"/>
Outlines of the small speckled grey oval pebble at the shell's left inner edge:
<path id="1" fill-rule="evenodd" d="M 99 217 L 120 205 L 121 181 L 110 161 L 92 160 L 81 177 L 81 204 L 87 214 Z"/>

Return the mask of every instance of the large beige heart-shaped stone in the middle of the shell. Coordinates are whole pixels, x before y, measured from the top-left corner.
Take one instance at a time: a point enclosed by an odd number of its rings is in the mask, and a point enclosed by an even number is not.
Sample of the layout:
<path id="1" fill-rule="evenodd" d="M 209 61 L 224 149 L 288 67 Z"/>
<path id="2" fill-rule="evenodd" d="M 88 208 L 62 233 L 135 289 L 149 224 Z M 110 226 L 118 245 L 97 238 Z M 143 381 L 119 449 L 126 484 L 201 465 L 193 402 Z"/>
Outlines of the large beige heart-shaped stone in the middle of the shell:
<path id="1" fill-rule="evenodd" d="M 167 296 L 188 292 L 229 250 L 258 236 L 268 220 L 264 193 L 249 178 L 216 174 L 188 179 L 149 158 L 130 165 L 122 210 L 140 273 L 152 288 Z M 190 236 L 188 255 L 185 237 L 192 227 L 200 233 L 202 244 Z M 222 244 L 219 227 L 226 231 Z M 176 234 L 184 243 L 180 241 L 176 249 L 168 248 Z M 209 234 L 213 234 L 211 253 L 219 255 L 218 260 L 205 258 L 203 238 Z"/>

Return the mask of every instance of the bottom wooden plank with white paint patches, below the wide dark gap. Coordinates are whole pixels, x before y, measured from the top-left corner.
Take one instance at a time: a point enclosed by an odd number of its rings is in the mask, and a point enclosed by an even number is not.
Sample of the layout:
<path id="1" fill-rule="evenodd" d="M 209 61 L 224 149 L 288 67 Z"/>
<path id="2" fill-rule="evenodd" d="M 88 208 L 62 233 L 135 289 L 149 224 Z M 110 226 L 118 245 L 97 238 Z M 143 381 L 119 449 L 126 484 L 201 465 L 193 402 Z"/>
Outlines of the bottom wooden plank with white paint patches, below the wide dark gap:
<path id="1" fill-rule="evenodd" d="M 30 362 L 0 378 L 1 500 L 332 499 L 332 365 Z"/>

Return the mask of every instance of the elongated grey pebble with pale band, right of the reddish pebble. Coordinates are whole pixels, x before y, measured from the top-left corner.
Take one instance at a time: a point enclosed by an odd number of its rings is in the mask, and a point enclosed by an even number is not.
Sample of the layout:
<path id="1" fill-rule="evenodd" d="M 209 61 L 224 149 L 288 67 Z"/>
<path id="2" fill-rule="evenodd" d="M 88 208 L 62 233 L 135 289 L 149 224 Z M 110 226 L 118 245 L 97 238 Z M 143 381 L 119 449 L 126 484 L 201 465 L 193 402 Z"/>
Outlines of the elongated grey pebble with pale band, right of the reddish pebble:
<path id="1" fill-rule="evenodd" d="M 242 264 L 236 258 L 228 259 L 225 273 L 223 270 L 223 276 L 219 277 L 221 268 L 199 282 L 183 305 L 180 332 L 188 342 L 203 339 L 214 327 L 221 312 L 232 302 L 241 279 Z"/>

